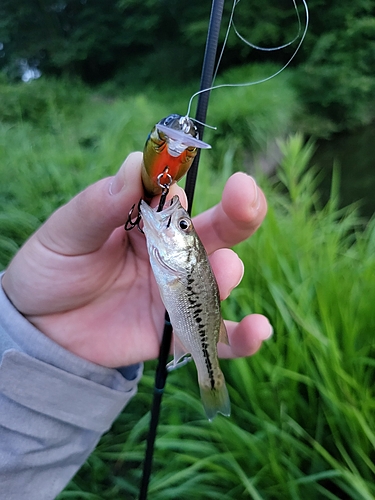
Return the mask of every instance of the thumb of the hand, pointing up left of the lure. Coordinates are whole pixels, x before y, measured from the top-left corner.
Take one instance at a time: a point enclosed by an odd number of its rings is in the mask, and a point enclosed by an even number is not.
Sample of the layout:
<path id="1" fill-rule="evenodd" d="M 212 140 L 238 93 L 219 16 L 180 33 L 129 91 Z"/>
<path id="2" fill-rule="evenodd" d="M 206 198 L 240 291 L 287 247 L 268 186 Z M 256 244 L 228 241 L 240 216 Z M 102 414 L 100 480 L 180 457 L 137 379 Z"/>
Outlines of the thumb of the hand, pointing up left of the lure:
<path id="1" fill-rule="evenodd" d="M 115 177 L 92 184 L 59 208 L 37 232 L 40 242 L 64 255 L 100 248 L 143 195 L 141 164 L 142 153 L 131 153 Z"/>

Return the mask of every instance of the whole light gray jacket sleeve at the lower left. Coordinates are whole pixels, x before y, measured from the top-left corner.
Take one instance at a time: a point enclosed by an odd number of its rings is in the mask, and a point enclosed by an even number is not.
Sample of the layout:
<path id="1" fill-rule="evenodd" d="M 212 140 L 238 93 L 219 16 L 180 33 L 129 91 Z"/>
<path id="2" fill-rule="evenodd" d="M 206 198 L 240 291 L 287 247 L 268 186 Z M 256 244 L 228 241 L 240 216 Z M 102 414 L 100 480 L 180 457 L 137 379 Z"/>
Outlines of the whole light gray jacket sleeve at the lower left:
<path id="1" fill-rule="evenodd" d="M 0 286 L 1 498 L 54 499 L 134 396 L 141 374 L 142 365 L 114 370 L 66 351 Z"/>

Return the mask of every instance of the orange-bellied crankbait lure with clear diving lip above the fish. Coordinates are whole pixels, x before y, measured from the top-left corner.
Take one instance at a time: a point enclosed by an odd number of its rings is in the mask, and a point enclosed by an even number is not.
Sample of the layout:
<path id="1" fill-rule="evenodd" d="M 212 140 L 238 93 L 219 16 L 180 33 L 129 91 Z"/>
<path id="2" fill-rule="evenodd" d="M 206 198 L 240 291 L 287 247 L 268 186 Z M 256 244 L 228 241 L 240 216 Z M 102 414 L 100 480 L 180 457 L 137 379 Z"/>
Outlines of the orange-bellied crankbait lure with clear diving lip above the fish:
<path id="1" fill-rule="evenodd" d="M 199 139 L 197 127 L 188 116 L 162 118 L 149 133 L 143 149 L 142 182 L 146 197 L 162 192 L 183 177 L 191 167 L 198 148 L 211 146 Z"/>

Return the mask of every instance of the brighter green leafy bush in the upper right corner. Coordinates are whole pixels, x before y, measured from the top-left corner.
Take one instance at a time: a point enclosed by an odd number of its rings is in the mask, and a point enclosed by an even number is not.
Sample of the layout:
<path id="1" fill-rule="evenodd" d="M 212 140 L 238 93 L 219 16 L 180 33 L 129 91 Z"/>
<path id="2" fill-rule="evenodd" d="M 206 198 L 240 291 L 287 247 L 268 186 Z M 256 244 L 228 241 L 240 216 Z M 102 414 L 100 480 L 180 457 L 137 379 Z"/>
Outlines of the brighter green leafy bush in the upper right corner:
<path id="1" fill-rule="evenodd" d="M 321 128 L 323 118 L 327 132 L 368 124 L 375 113 L 375 3 L 331 2 L 331 9 L 319 19 L 312 10 L 316 18 L 297 75 L 302 101 L 315 117 L 306 129 Z"/>

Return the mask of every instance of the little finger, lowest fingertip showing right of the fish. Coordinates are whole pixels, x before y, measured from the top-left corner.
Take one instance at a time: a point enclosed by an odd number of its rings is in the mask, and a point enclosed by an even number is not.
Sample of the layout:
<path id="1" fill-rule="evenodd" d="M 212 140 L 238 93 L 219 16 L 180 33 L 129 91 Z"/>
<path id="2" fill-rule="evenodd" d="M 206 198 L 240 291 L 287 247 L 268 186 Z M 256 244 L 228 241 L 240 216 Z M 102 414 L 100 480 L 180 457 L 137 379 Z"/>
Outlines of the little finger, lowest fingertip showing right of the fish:
<path id="1" fill-rule="evenodd" d="M 239 358 L 255 354 L 262 342 L 273 334 L 268 319 L 261 314 L 246 316 L 240 323 L 226 321 L 230 346 L 219 343 L 218 353 L 221 358 Z"/>

